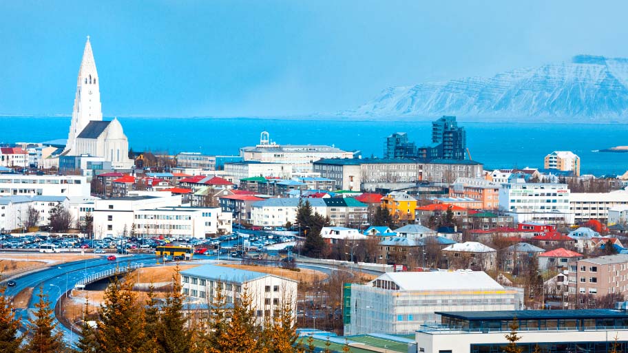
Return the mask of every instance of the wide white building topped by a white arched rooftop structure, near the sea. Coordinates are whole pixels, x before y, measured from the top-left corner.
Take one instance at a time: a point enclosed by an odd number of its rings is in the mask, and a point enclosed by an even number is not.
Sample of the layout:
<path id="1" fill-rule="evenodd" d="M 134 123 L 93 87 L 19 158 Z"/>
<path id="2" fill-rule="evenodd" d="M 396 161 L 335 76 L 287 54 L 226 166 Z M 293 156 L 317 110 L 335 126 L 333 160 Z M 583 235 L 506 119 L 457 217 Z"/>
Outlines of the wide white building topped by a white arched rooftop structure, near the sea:
<path id="1" fill-rule="evenodd" d="M 244 161 L 292 164 L 293 171 L 308 172 L 313 171 L 312 163 L 317 160 L 353 158 L 353 152 L 323 145 L 278 145 L 271 142 L 268 132 L 263 131 L 260 144 L 255 147 L 242 147 L 240 156 Z"/>

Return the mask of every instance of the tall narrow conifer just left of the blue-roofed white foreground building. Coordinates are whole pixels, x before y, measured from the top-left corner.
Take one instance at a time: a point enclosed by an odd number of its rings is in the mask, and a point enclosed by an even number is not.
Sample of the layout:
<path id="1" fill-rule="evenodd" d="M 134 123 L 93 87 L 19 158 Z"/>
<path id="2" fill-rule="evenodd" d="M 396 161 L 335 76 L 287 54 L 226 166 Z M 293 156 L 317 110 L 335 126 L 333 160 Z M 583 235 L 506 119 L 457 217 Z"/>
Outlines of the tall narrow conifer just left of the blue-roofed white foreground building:
<path id="1" fill-rule="evenodd" d="M 187 353 L 190 350 L 190 332 L 186 328 L 186 319 L 183 317 L 183 294 L 179 282 L 179 267 L 172 275 L 172 290 L 166 297 L 158 342 L 168 353 Z"/>

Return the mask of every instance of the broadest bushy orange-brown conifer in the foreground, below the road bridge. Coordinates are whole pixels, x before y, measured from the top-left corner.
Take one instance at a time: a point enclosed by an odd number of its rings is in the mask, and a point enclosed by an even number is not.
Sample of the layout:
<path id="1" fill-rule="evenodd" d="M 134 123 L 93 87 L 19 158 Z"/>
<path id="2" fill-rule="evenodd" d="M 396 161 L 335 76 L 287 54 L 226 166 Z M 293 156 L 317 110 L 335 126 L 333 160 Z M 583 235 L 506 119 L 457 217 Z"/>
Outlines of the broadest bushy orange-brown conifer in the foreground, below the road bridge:
<path id="1" fill-rule="evenodd" d="M 98 310 L 96 339 L 107 353 L 136 352 L 143 344 L 143 323 L 131 282 L 114 277 L 105 290 L 105 303 Z"/>

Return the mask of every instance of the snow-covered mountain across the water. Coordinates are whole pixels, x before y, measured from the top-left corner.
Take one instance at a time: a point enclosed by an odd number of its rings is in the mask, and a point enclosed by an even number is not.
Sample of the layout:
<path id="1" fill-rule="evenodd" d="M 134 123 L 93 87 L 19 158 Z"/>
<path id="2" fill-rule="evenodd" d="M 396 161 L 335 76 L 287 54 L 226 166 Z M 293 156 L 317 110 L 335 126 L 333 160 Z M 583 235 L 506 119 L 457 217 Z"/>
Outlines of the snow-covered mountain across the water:
<path id="1" fill-rule="evenodd" d="M 578 55 L 570 63 L 384 89 L 342 116 L 477 116 L 628 122 L 628 58 Z"/>

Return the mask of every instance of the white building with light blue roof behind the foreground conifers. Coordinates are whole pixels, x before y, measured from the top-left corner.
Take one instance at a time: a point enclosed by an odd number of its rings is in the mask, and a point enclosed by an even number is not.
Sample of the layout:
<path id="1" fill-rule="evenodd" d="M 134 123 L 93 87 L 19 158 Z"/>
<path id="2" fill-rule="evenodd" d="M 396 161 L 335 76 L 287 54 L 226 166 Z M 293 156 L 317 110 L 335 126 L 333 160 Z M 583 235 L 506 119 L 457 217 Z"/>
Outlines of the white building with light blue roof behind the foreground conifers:
<path id="1" fill-rule="evenodd" d="M 192 302 L 211 303 L 218 288 L 227 303 L 234 303 L 244 292 L 253 299 L 251 306 L 258 323 L 271 319 L 275 310 L 287 303 L 297 314 L 297 281 L 263 272 L 240 270 L 223 266 L 203 265 L 181 271 L 184 295 Z"/>

